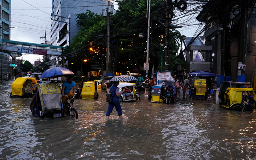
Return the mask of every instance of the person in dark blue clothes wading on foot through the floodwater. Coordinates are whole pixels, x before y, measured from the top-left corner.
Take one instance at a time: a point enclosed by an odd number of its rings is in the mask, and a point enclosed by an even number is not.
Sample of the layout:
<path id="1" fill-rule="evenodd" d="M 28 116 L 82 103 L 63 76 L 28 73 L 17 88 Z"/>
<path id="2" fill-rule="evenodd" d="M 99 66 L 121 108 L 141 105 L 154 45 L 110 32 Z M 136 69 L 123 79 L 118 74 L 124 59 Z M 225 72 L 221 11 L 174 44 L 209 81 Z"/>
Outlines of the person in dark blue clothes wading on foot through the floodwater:
<path id="1" fill-rule="evenodd" d="M 119 96 L 124 93 L 125 89 L 123 89 L 122 92 L 119 92 L 119 88 L 117 87 L 118 84 L 118 81 L 114 81 L 113 86 L 111 86 L 108 90 L 108 92 L 112 94 L 113 100 L 111 103 L 108 102 L 108 111 L 106 112 L 106 119 L 109 118 L 114 107 L 116 108 L 119 118 L 122 117 L 122 108 L 119 102 Z"/>

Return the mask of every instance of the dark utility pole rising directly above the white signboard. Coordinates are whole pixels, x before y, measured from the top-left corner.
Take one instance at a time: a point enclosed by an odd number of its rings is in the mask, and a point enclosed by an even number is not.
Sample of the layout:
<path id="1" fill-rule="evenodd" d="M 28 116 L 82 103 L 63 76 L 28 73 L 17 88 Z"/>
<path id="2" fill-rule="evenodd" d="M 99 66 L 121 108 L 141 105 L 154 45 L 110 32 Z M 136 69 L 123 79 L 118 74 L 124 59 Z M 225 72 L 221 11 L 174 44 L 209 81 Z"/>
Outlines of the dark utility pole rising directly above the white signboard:
<path id="1" fill-rule="evenodd" d="M 166 2 L 166 8 L 165 8 L 165 46 L 164 46 L 164 71 L 170 71 L 170 64 L 169 64 L 169 25 L 170 25 L 170 18 L 169 18 L 169 10 L 168 10 L 168 0 Z"/>

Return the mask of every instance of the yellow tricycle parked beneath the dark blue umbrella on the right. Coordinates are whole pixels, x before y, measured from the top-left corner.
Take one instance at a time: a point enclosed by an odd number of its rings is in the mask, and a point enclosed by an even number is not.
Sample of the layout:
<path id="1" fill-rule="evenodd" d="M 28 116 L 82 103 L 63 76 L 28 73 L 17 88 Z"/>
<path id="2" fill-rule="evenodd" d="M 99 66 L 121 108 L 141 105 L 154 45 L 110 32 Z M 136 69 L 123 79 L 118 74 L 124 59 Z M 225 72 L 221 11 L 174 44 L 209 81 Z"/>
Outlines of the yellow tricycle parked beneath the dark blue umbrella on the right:
<path id="1" fill-rule="evenodd" d="M 207 99 L 207 85 L 204 79 L 195 79 L 194 86 L 189 90 L 189 99 L 204 98 Z"/>

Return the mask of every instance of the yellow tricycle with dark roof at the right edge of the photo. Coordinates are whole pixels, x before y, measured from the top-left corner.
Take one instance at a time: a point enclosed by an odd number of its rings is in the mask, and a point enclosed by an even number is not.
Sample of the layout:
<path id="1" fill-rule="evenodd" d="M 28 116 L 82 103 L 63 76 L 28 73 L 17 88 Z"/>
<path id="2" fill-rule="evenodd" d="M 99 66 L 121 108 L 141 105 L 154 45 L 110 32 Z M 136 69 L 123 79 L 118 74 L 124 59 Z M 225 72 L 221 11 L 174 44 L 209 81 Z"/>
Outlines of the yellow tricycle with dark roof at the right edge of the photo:
<path id="1" fill-rule="evenodd" d="M 220 106 L 240 112 L 253 111 L 256 94 L 252 88 L 227 88 Z"/>

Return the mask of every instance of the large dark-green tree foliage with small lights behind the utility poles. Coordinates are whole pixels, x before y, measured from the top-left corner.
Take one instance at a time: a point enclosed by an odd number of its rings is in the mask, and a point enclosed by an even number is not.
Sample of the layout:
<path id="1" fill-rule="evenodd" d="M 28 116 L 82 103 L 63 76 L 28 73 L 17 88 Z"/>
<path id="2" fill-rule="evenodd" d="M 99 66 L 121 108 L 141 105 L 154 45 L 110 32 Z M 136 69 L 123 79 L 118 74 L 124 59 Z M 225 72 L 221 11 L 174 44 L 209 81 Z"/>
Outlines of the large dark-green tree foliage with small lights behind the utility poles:
<path id="1" fill-rule="evenodd" d="M 146 18 L 147 0 L 116 0 L 118 10 L 110 18 L 110 54 L 113 62 L 116 50 L 118 50 L 117 72 L 132 72 L 132 68 L 141 69 L 146 62 L 147 35 L 139 38 L 139 33 L 147 33 L 148 18 Z M 164 18 L 165 10 L 162 8 L 164 1 L 151 1 L 152 19 Z M 80 32 L 63 56 L 71 58 L 72 62 L 81 62 L 88 59 L 88 63 L 106 64 L 106 18 L 102 14 L 94 14 L 89 10 L 86 13 L 77 14 L 77 25 L 81 26 Z M 176 33 L 170 30 L 170 34 Z M 164 44 L 165 27 L 158 21 L 151 21 L 150 29 L 150 68 L 154 64 L 155 69 L 159 69 L 161 54 L 160 44 Z M 177 41 L 180 34 L 174 36 L 170 41 L 170 69 L 175 70 L 182 62 L 176 58 L 176 53 L 180 47 Z M 116 44 L 117 39 L 119 43 Z M 90 50 L 92 48 L 92 50 Z M 174 50 L 175 53 L 171 53 Z M 102 56 L 104 54 L 104 56 Z M 163 57 L 164 59 L 164 57 Z M 150 69 L 152 70 L 152 69 Z"/>

